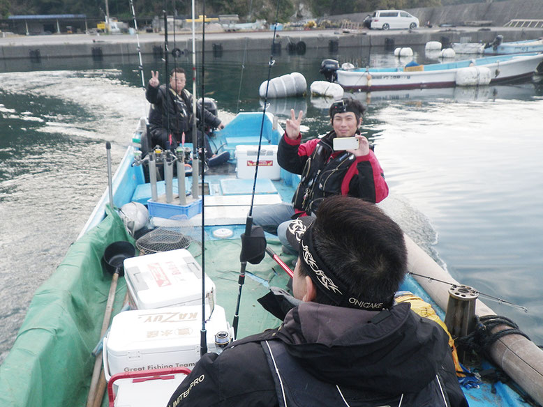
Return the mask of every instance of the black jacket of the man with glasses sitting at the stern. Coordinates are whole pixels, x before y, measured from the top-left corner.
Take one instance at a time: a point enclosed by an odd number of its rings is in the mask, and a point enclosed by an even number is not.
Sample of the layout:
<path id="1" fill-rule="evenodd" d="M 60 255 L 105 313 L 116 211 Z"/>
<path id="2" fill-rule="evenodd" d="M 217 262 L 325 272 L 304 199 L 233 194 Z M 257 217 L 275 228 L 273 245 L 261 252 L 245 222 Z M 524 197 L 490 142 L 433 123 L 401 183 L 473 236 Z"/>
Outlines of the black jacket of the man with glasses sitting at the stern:
<path id="1" fill-rule="evenodd" d="M 147 91 L 145 92 L 145 98 L 151 103 L 149 109 L 149 127 L 151 135 L 154 141 L 159 141 L 158 134 L 163 131 L 164 137 L 168 137 L 168 119 L 170 121 L 170 133 L 174 138 L 174 142 L 181 141 L 181 134 L 186 132 L 186 142 L 191 142 L 192 128 L 193 128 L 193 95 L 186 89 L 181 91 L 181 94 L 175 93 L 170 89 L 170 97 L 166 100 L 166 85 L 163 84 L 158 87 L 147 85 Z M 168 105 L 167 105 L 168 104 Z M 201 116 L 200 109 L 196 109 L 196 117 Z M 204 109 L 204 121 L 210 127 L 216 128 L 221 124 L 221 120 Z M 165 148 L 165 140 L 159 143 Z"/>

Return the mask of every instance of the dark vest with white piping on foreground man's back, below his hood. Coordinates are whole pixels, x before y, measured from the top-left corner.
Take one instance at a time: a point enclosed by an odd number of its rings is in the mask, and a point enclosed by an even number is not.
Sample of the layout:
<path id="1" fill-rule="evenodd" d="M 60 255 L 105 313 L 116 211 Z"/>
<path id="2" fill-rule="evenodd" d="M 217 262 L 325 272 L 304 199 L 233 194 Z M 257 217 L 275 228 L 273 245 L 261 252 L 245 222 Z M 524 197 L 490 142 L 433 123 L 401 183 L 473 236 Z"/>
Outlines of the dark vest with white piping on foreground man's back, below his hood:
<path id="1" fill-rule="evenodd" d="M 288 354 L 282 341 L 260 342 L 274 378 L 279 407 L 449 407 L 445 385 L 438 375 L 416 394 L 383 396 L 362 390 L 341 389 L 320 381 Z M 346 373 L 348 374 L 348 373 Z"/>

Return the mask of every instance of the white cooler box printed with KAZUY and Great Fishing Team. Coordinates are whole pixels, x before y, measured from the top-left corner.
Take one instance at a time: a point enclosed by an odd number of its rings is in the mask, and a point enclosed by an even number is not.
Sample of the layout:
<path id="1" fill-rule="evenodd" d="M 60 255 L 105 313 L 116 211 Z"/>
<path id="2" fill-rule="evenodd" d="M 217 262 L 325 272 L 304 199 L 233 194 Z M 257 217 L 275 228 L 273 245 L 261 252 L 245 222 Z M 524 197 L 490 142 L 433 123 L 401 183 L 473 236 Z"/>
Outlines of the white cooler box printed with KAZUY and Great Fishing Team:
<path id="1" fill-rule="evenodd" d="M 206 306 L 209 318 L 209 306 Z M 216 351 L 215 335 L 233 331 L 223 307 L 215 306 L 206 323 L 207 351 Z M 104 338 L 103 363 L 107 381 L 117 373 L 188 367 L 200 359 L 201 305 L 135 309 L 114 316 Z"/>

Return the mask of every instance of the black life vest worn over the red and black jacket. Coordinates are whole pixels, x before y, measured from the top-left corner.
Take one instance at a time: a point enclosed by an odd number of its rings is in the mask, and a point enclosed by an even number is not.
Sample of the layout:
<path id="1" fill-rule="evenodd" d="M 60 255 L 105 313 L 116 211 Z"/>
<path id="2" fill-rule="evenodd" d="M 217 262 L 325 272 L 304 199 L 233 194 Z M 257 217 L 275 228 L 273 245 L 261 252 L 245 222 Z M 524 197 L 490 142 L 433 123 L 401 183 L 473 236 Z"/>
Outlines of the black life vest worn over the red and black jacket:
<path id="1" fill-rule="evenodd" d="M 317 143 L 302 171 L 297 190 L 292 197 L 292 205 L 306 213 L 315 213 L 322 199 L 341 194 L 341 184 L 355 155 L 344 151 L 332 160 L 334 152 L 332 140 L 335 133 L 329 132 Z"/>

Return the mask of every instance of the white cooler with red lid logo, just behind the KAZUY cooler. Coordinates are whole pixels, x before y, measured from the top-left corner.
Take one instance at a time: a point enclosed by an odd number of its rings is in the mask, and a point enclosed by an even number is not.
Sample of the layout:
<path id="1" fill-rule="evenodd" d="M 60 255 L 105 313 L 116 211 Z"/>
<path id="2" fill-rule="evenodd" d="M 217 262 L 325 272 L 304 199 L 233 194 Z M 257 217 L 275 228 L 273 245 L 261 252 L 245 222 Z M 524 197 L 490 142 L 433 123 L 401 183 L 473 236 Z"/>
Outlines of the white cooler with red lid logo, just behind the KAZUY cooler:
<path id="1" fill-rule="evenodd" d="M 186 249 L 136 256 L 124 261 L 131 309 L 202 304 L 202 268 Z M 215 304 L 215 284 L 205 276 L 205 302 Z"/>

